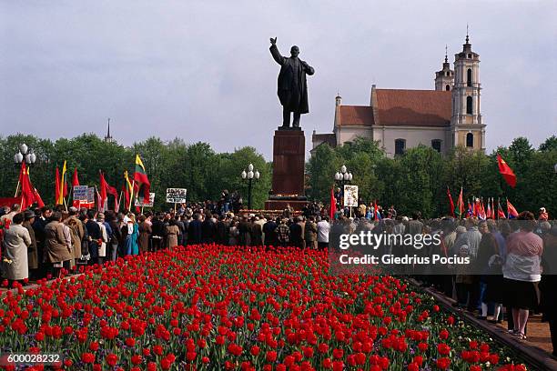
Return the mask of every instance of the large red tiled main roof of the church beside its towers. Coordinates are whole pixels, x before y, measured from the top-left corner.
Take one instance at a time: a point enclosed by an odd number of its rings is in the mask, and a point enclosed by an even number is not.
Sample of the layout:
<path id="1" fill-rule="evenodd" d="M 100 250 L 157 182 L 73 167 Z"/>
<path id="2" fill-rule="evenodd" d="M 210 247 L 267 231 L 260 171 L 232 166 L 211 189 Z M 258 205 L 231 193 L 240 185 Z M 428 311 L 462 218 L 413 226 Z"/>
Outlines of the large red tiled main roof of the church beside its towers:
<path id="1" fill-rule="evenodd" d="M 377 89 L 376 91 L 380 125 L 448 126 L 451 124 L 451 92 L 406 89 Z"/>

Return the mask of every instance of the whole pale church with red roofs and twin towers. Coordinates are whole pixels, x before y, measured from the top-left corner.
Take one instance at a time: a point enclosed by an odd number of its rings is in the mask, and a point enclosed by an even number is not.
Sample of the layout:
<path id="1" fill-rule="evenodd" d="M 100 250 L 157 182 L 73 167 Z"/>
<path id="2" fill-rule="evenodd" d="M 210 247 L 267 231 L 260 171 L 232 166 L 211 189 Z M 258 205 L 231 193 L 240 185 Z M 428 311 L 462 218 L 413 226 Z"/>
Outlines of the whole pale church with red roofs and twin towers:
<path id="1" fill-rule="evenodd" d="M 371 86 L 370 105 L 342 105 L 335 98 L 333 132 L 312 135 L 319 145 L 342 145 L 357 136 L 380 141 L 393 157 L 407 148 L 430 145 L 447 153 L 456 145 L 485 151 L 485 125 L 480 111 L 480 55 L 470 38 L 455 55 L 454 70 L 445 62 L 435 73 L 435 90 L 378 89 Z"/>

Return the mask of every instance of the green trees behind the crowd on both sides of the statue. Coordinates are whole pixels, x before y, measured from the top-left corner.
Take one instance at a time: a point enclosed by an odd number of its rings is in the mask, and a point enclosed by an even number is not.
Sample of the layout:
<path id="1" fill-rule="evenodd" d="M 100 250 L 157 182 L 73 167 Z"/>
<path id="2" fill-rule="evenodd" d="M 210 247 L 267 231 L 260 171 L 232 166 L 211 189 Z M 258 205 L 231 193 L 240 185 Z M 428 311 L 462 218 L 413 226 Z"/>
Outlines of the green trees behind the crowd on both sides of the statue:
<path id="1" fill-rule="evenodd" d="M 123 173 L 134 171 L 135 155 L 146 166 L 155 192 L 157 209 L 165 204 L 167 188 L 187 188 L 191 201 L 218 200 L 223 189 L 237 190 L 247 203 L 248 186 L 240 173 L 253 164 L 260 178 L 253 186 L 253 206 L 263 208 L 271 188 L 272 163 L 253 147 L 241 147 L 231 153 L 216 153 L 207 143 L 186 144 L 176 138 L 164 142 L 150 137 L 131 146 L 106 142 L 96 135 L 84 134 L 56 141 L 34 135 L 0 137 L 0 196 L 14 196 L 19 168 L 14 155 L 22 143 L 36 155 L 30 169 L 31 180 L 43 200 L 54 204 L 56 166 L 67 160 L 67 181 L 77 168 L 82 185 L 98 185 L 98 172 L 118 191 L 124 184 Z M 511 188 L 502 180 L 497 167 L 500 154 L 517 175 Z M 420 210 L 423 216 L 449 214 L 447 186 L 456 203 L 461 187 L 464 199 L 472 196 L 505 197 L 520 210 L 546 207 L 557 213 L 557 136 L 548 138 L 538 148 L 528 139 L 516 138 L 508 147 L 498 147 L 491 154 L 454 148 L 441 155 L 429 146 L 408 149 L 403 155 L 389 158 L 379 142 L 357 138 L 331 148 L 319 145 L 306 164 L 306 193 L 311 200 L 329 203 L 330 189 L 339 186 L 334 175 L 346 165 L 353 175 L 351 184 L 359 186 L 360 196 L 370 202 L 377 199 L 381 206 L 394 205 L 399 212 L 410 214 Z"/>

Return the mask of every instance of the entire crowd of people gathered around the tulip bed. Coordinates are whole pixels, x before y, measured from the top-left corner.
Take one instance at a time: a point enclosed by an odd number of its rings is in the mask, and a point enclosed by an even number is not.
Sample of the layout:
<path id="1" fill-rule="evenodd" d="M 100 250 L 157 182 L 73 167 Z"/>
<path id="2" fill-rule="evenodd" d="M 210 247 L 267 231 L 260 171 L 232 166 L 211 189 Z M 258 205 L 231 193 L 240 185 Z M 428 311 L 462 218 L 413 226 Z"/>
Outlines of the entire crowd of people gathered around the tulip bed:
<path id="1" fill-rule="evenodd" d="M 447 265 L 435 274 L 427 269 L 401 273 L 437 287 L 456 299 L 455 306 L 477 311 L 482 320 L 491 317 L 491 322 L 501 322 L 506 313 L 510 332 L 518 338 L 526 338 L 529 314 L 542 312 L 550 323 L 554 348 L 557 344 L 557 315 L 552 310 L 557 306 L 557 225 L 546 217 L 537 220 L 532 213 L 522 212 L 517 218 L 520 223 L 475 217 L 423 220 L 420 213 L 397 215 L 393 206 L 378 217 L 369 212 L 375 206 L 362 206 L 356 213 L 340 208 L 336 220 L 330 221 L 328 210 L 316 203 L 301 214 L 287 206 L 279 216 L 241 210 L 235 214 L 226 204 L 181 205 L 176 212 L 154 214 L 5 207 L 0 209 L 4 284 L 25 284 L 29 278 L 60 276 L 77 266 L 171 246 L 214 243 L 325 249 L 329 236 L 339 233 L 440 234 L 441 245 L 434 247 L 438 250 L 426 248 L 420 254 L 468 256 L 473 268 Z M 542 214 L 547 216 L 544 209 Z M 402 246 L 381 248 L 393 255 L 409 253 Z"/>

